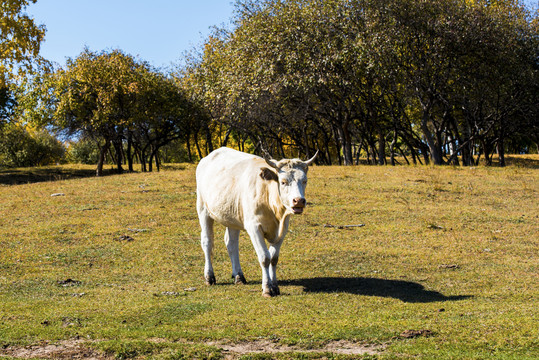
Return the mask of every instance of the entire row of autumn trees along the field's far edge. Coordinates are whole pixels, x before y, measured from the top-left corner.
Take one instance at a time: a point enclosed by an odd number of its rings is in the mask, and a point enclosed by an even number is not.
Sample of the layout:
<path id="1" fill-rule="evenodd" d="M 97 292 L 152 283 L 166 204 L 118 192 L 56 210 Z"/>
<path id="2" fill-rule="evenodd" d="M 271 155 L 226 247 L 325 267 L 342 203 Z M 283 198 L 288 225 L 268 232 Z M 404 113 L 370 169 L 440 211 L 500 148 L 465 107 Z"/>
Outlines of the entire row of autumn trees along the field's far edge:
<path id="1" fill-rule="evenodd" d="M 538 29 L 514 0 L 237 0 L 232 28 L 172 72 L 86 50 L 0 93 L 2 116 L 60 132 L 98 174 L 218 146 L 503 166 L 538 150 Z"/>

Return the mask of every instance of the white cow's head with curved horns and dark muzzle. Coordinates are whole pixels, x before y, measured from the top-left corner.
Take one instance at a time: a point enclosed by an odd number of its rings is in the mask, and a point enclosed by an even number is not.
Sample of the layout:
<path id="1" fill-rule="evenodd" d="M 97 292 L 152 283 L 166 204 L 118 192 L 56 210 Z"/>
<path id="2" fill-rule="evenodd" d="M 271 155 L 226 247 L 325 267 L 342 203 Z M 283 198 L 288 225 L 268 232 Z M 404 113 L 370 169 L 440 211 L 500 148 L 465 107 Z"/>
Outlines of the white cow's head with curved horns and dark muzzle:
<path id="1" fill-rule="evenodd" d="M 276 161 L 266 154 L 264 160 L 277 171 L 275 179 L 279 184 L 279 197 L 286 209 L 294 214 L 301 214 L 307 200 L 305 200 L 305 187 L 307 186 L 307 170 L 312 164 L 318 151 L 307 160 L 282 159 Z"/>

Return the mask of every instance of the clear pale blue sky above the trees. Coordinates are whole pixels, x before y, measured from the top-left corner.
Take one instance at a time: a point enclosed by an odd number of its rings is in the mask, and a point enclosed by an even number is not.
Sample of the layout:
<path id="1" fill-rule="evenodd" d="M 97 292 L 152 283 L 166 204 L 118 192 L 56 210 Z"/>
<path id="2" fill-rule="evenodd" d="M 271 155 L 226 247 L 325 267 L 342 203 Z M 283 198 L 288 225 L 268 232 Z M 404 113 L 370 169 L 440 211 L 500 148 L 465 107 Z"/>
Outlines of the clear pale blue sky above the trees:
<path id="1" fill-rule="evenodd" d="M 228 26 L 232 0 L 38 0 L 26 12 L 47 27 L 41 55 L 65 65 L 84 47 L 121 49 L 154 66 L 179 63 L 210 27 Z"/>

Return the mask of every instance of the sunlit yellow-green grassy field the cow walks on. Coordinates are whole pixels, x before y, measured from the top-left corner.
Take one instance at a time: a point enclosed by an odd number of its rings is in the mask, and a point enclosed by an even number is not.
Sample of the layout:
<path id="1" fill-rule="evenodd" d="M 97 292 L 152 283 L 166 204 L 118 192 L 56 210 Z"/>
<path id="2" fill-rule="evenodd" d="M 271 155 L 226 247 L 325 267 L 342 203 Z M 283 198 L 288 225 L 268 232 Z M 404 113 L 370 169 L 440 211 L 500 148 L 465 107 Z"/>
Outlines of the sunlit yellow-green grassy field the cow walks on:
<path id="1" fill-rule="evenodd" d="M 313 167 L 271 299 L 244 233 L 233 285 L 219 226 L 204 285 L 194 165 L 0 171 L 0 358 L 537 359 L 539 157 L 517 160 Z"/>

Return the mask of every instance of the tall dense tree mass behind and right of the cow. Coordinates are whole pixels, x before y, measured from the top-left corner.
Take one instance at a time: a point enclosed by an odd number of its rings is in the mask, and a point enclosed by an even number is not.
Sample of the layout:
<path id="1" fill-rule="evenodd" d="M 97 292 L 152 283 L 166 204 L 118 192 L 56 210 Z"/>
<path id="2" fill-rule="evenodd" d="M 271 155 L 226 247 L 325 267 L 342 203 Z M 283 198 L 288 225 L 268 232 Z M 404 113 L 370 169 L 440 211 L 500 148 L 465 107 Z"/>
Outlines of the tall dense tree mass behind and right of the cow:
<path id="1" fill-rule="evenodd" d="M 184 76 L 275 153 L 504 165 L 539 142 L 538 22 L 516 1 L 247 0 L 235 24 Z"/>

